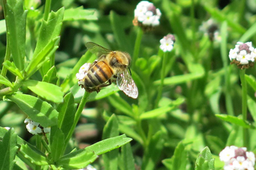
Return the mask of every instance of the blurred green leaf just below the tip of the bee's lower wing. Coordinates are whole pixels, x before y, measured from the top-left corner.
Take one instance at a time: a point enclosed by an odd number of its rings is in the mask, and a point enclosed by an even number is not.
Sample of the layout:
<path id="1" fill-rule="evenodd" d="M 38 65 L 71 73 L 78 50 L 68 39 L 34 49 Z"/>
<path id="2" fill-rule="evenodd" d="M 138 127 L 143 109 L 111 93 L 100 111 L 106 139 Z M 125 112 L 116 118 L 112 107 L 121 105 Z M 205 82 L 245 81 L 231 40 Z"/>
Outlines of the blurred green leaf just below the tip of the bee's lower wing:
<path id="1" fill-rule="evenodd" d="M 110 104 L 112 104 L 113 107 L 118 108 L 121 112 L 130 116 L 133 114 L 132 107 L 120 96 L 113 94 L 112 96 L 108 96 L 108 99 Z"/>

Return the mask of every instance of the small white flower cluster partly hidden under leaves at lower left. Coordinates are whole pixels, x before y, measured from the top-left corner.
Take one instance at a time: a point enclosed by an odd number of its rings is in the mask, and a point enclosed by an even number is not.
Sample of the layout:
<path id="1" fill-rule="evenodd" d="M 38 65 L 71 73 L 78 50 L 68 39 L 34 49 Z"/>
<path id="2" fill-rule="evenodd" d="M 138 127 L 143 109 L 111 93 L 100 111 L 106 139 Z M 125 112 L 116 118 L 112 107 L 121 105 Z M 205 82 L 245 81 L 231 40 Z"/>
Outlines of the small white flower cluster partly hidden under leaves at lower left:
<path id="1" fill-rule="evenodd" d="M 43 128 L 41 125 L 39 125 L 39 123 L 34 122 L 29 117 L 24 120 L 24 123 L 27 123 L 26 124 L 26 129 L 31 134 L 42 134 L 42 133 L 46 134 L 46 133 L 50 132 L 50 127 Z"/>

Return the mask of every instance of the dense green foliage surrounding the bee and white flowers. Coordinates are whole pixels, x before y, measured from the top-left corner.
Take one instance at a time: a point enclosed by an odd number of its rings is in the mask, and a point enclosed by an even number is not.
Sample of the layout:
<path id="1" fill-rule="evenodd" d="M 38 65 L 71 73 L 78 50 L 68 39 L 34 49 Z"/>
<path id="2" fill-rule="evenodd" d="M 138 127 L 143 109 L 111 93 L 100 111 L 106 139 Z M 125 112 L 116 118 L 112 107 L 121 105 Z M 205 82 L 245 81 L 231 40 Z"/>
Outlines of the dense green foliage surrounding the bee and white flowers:
<path id="1" fill-rule="evenodd" d="M 255 152 L 255 67 L 228 58 L 238 41 L 256 46 L 255 1 L 152 0 L 162 16 L 146 32 L 132 26 L 140 1 L 98 2 L 0 1 L 0 169 L 223 169 L 225 146 Z M 220 39 L 200 31 L 210 18 Z M 134 58 L 137 99 L 78 86 L 97 59 L 86 42 Z M 50 133 L 31 136 L 26 117 Z"/>

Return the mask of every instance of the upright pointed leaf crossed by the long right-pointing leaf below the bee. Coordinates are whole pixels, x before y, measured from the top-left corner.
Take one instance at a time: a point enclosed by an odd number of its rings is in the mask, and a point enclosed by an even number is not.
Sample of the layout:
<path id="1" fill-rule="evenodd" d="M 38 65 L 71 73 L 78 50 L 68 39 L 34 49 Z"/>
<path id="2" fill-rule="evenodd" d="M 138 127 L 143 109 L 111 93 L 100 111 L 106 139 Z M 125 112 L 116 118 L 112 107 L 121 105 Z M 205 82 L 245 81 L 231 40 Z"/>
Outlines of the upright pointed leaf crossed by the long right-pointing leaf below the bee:
<path id="1" fill-rule="evenodd" d="M 118 120 L 116 115 L 112 115 L 103 129 L 102 139 L 118 136 Z M 117 170 L 118 150 L 112 150 L 102 155 L 106 170 Z"/>

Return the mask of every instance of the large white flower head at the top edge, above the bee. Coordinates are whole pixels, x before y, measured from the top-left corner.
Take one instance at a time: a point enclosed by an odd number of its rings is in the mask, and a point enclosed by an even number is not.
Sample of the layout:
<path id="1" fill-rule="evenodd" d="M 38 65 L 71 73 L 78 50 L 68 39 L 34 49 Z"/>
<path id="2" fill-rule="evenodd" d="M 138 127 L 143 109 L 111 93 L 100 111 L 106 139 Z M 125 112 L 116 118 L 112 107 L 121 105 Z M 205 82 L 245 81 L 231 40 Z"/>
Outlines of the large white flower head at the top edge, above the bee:
<path id="1" fill-rule="evenodd" d="M 144 31 L 150 31 L 154 26 L 159 26 L 162 13 L 149 1 L 140 1 L 135 9 L 134 26 L 140 26 Z"/>

